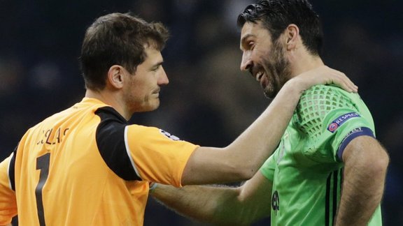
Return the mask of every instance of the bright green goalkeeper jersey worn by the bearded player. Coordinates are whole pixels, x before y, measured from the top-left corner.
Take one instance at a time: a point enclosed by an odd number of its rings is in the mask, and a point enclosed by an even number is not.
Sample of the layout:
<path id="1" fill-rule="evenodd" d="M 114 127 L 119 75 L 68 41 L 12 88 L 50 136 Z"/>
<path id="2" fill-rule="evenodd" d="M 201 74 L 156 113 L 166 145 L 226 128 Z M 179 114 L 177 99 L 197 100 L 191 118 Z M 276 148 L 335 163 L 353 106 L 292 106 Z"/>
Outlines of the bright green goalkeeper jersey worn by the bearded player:
<path id="1" fill-rule="evenodd" d="M 374 137 L 374 121 L 357 93 L 324 85 L 305 91 L 278 148 L 260 169 L 273 183 L 271 225 L 333 225 L 341 155 L 361 135 Z M 382 225 L 380 206 L 369 225 Z"/>

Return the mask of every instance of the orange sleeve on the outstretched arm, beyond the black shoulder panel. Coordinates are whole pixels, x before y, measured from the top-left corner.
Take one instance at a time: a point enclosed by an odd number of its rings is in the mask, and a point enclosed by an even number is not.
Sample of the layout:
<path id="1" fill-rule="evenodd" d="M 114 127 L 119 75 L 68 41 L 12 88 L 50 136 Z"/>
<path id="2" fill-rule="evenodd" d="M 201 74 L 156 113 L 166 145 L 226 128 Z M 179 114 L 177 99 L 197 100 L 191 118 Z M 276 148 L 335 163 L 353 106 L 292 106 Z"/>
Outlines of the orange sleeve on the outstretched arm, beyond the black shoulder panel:
<path id="1" fill-rule="evenodd" d="M 183 169 L 198 146 L 160 128 L 131 125 L 126 130 L 126 149 L 136 174 L 146 181 L 181 186 Z"/>

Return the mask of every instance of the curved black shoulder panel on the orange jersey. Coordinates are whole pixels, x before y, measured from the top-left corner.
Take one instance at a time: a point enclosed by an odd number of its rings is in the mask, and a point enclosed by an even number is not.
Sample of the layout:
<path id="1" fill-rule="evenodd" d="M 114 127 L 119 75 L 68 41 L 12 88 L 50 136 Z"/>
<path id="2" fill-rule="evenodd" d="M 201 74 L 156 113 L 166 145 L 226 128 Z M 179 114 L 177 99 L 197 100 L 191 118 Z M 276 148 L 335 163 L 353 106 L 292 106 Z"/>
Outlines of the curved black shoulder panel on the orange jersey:
<path id="1" fill-rule="evenodd" d="M 97 146 L 106 165 L 126 181 L 141 181 L 125 143 L 127 121 L 112 107 L 101 107 L 95 114 L 101 118 L 97 128 Z"/>

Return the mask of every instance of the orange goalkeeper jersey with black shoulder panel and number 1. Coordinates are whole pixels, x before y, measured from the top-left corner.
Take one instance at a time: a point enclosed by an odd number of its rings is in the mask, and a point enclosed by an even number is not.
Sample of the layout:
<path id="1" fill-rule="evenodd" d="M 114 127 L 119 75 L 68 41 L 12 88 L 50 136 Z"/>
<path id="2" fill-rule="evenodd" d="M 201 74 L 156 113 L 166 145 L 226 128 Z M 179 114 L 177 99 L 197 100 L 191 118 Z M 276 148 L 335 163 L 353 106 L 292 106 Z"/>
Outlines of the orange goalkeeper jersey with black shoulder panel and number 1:
<path id="1" fill-rule="evenodd" d="M 181 186 L 197 145 L 84 98 L 30 128 L 0 164 L 0 225 L 143 225 L 148 181 Z"/>

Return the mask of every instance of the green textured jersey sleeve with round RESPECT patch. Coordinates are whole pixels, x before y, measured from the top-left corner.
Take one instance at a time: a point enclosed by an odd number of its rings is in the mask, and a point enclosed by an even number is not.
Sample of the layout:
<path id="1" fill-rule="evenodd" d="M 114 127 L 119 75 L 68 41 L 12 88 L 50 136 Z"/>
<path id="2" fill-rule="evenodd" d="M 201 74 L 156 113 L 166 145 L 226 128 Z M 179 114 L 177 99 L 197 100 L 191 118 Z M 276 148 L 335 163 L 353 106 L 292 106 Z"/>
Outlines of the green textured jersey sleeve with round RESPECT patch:
<path id="1" fill-rule="evenodd" d="M 360 111 L 358 94 L 334 86 L 313 86 L 297 106 L 295 122 L 308 142 L 304 155 L 318 162 L 341 162 L 344 148 L 360 135 L 374 137 L 369 112 Z"/>

